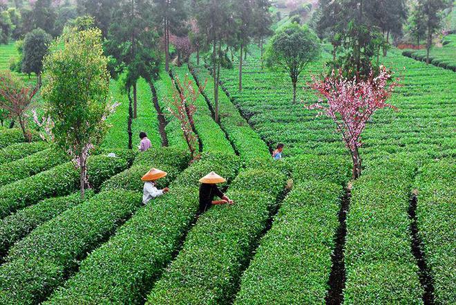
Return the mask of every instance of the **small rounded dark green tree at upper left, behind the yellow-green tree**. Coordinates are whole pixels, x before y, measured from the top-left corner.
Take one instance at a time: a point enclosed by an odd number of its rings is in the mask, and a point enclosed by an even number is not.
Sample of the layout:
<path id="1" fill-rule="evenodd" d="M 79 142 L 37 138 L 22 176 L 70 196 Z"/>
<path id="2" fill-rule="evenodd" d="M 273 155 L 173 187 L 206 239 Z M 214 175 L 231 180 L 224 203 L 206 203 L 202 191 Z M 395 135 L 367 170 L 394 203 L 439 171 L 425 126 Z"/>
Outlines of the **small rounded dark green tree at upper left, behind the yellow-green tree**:
<path id="1" fill-rule="evenodd" d="M 41 86 L 41 70 L 43 58 L 48 52 L 53 37 L 41 28 L 32 30 L 23 39 L 22 46 L 22 72 L 35 73 L 38 77 L 38 86 Z"/>

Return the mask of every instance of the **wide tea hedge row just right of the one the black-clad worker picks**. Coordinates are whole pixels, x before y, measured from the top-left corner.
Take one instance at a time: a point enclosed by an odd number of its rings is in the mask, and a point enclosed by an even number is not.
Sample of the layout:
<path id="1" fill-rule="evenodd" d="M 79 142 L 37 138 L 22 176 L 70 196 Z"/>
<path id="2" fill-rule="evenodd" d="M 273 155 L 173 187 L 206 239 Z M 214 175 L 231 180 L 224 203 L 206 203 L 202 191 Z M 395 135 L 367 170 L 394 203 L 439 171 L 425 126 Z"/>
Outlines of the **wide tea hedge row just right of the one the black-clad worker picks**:
<path id="1" fill-rule="evenodd" d="M 235 304 L 325 303 L 342 195 L 341 185 L 327 181 L 294 186 L 244 272 Z"/>

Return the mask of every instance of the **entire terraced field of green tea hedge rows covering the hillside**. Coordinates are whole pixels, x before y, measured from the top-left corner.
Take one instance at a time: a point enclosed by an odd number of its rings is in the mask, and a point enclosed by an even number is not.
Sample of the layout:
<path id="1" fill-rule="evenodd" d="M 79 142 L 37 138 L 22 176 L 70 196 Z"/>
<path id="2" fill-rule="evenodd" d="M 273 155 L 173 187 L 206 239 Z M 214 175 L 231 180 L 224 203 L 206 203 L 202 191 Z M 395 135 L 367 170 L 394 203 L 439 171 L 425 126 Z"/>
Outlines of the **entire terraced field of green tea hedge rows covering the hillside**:
<path id="1" fill-rule="evenodd" d="M 243 91 L 236 69 L 222 71 L 220 123 L 213 80 L 193 60 L 140 80 L 133 150 L 128 98 L 112 81 L 121 105 L 89 158 L 84 201 L 68 157 L 37 133 L 26 143 L 1 129 L 0 304 L 455 303 L 455 74 L 399 50 L 383 62 L 403 79 L 390 100 L 399 111 L 369 122 L 357 181 L 332 122 L 304 107 L 316 101 L 310 73 L 292 104 L 289 77 L 262 70 L 256 46 Z M 195 90 L 207 79 L 192 163 L 166 110 L 185 75 Z M 144 153 L 139 131 L 152 142 Z M 151 167 L 168 172 L 158 186 L 170 192 L 142 205 Z M 235 204 L 198 214 L 198 179 L 211 171 Z"/>

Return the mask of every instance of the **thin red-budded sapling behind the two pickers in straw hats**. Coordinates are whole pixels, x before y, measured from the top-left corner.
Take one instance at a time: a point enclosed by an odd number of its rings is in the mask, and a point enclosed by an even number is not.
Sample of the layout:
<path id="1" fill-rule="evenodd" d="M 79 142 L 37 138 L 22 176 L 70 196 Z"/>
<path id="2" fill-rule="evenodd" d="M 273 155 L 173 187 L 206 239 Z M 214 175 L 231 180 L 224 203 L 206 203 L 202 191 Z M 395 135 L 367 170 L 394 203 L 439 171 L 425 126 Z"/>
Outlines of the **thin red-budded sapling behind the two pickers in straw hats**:
<path id="1" fill-rule="evenodd" d="M 173 80 L 173 84 L 178 88 L 177 91 L 173 92 L 171 100 L 169 100 L 168 111 L 177 118 L 180 122 L 180 128 L 184 133 L 185 142 L 189 147 L 190 155 L 192 160 L 196 156 L 196 145 L 198 144 L 198 136 L 195 132 L 195 124 L 193 121 L 193 115 L 196 113 L 195 101 L 205 89 L 205 85 L 196 91 L 193 87 L 193 82 L 189 80 L 188 75 L 185 75 L 184 81 L 180 81 L 176 75 Z"/>

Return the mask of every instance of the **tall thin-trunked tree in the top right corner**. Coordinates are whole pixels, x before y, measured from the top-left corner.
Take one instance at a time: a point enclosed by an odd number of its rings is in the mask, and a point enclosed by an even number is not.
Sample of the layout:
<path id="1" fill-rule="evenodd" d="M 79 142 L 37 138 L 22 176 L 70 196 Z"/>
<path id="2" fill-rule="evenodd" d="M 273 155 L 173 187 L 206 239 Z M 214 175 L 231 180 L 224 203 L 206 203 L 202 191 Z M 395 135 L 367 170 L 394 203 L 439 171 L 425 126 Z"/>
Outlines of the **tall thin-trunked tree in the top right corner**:
<path id="1" fill-rule="evenodd" d="M 442 13 L 448 6 L 446 0 L 418 0 L 418 6 L 426 22 L 428 39 L 426 44 L 426 64 L 429 64 L 429 52 L 433 46 L 433 35 L 440 29 Z"/>

